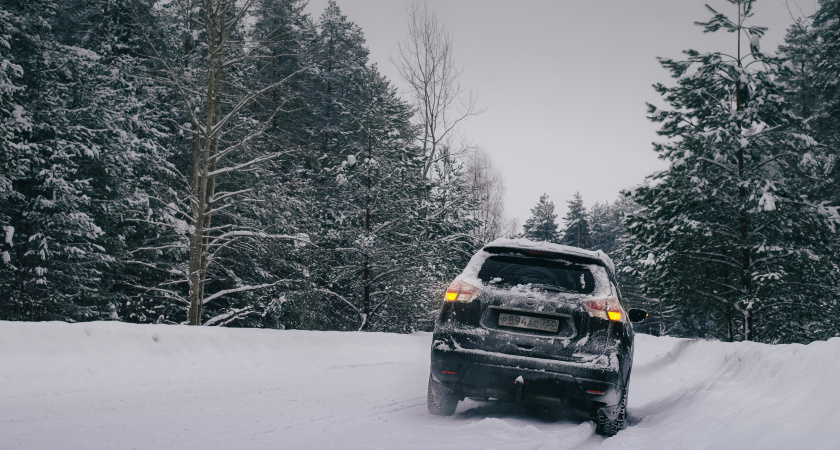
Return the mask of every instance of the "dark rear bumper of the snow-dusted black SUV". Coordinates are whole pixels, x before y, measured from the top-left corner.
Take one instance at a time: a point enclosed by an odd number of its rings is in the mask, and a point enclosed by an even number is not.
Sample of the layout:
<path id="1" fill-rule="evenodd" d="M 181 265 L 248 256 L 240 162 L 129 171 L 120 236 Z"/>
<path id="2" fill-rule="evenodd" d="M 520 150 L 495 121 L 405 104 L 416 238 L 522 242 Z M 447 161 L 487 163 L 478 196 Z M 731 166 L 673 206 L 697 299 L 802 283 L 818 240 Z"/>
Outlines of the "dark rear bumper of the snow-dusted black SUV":
<path id="1" fill-rule="evenodd" d="M 433 349 L 431 375 L 461 397 L 566 405 L 593 415 L 624 393 L 613 368 L 476 350 Z"/>

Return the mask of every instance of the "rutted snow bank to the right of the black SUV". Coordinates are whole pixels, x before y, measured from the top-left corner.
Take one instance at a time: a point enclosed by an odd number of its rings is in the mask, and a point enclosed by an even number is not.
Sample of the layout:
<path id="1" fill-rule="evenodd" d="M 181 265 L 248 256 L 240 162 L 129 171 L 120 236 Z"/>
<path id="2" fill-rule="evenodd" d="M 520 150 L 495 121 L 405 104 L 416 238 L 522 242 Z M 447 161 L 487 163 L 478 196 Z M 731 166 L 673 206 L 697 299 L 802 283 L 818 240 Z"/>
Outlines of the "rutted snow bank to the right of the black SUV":
<path id="1" fill-rule="evenodd" d="M 836 449 L 840 338 L 809 345 L 637 335 L 619 436 L 656 448 Z M 619 446 L 624 448 L 622 446 Z"/>

